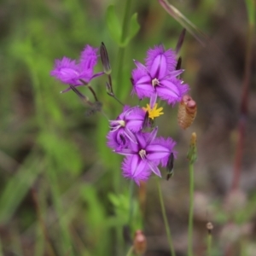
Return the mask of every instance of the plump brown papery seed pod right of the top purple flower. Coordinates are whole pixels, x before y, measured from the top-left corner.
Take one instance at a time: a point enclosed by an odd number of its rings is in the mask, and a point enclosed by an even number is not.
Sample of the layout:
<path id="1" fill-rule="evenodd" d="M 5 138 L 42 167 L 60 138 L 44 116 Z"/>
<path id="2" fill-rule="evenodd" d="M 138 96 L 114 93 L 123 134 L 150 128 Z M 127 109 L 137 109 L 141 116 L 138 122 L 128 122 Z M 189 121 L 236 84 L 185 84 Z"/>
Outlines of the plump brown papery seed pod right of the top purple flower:
<path id="1" fill-rule="evenodd" d="M 178 125 L 183 129 L 187 129 L 190 125 L 192 125 L 195 119 L 196 111 L 196 102 L 188 95 L 183 96 L 177 110 Z"/>

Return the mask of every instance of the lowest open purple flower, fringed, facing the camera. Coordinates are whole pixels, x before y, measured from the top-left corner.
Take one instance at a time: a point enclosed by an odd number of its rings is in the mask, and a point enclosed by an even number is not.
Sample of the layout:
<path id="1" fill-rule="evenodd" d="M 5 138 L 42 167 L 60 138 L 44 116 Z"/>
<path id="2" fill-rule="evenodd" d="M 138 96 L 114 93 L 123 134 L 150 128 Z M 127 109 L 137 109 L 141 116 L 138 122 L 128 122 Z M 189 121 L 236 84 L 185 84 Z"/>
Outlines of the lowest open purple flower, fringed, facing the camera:
<path id="1" fill-rule="evenodd" d="M 135 134 L 137 143 L 115 150 L 126 156 L 122 164 L 124 177 L 134 179 L 137 184 L 147 180 L 152 172 L 161 177 L 158 166 L 166 166 L 172 153 L 175 142 L 171 138 L 155 138 L 157 131 L 157 127 L 151 133 L 139 131 Z"/>

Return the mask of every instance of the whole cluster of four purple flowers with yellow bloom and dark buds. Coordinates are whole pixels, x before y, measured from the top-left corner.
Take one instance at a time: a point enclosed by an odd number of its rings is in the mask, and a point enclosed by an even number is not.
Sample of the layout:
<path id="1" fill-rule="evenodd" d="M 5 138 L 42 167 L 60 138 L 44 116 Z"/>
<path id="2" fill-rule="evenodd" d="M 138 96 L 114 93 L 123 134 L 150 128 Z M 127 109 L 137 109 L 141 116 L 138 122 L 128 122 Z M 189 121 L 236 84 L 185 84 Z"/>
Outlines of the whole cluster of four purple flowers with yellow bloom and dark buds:
<path id="1" fill-rule="evenodd" d="M 79 61 L 67 57 L 55 61 L 55 67 L 50 74 L 69 85 L 63 92 L 72 89 L 84 99 L 85 96 L 75 87 L 88 85 L 91 79 L 105 73 L 108 75 L 108 95 L 118 100 L 113 94 L 112 70 L 103 43 L 100 54 L 104 72 L 94 73 L 97 50 L 87 45 Z M 163 114 L 163 108 L 157 108 L 157 102 L 162 100 L 173 106 L 181 102 L 189 86 L 183 84 L 183 80 L 179 78 L 183 70 L 178 67 L 176 53 L 172 49 L 165 50 L 163 45 L 148 50 L 145 65 L 139 61 L 134 62 L 136 68 L 131 73 L 131 93 L 140 100 L 149 98 L 149 104 L 146 108 L 125 106 L 117 119 L 110 120 L 107 144 L 113 152 L 125 155 L 122 163 L 123 175 L 139 185 L 140 181 L 146 181 L 152 173 L 161 177 L 159 166 L 172 169 L 173 157 L 176 154 L 173 151 L 175 142 L 170 137 L 157 137 L 158 127 L 154 127 L 154 119 Z M 94 90 L 90 85 L 88 87 L 98 102 Z"/>

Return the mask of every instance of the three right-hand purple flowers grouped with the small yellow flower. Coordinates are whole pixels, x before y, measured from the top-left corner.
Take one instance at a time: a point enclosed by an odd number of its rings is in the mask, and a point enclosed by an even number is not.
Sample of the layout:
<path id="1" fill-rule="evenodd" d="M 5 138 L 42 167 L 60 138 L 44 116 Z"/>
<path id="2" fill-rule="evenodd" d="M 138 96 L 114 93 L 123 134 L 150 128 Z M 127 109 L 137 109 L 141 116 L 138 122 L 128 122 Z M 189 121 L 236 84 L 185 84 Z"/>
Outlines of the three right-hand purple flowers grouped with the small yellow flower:
<path id="1" fill-rule="evenodd" d="M 161 177 L 158 166 L 166 167 L 173 159 L 175 142 L 170 137 L 157 137 L 158 127 L 153 128 L 150 122 L 163 114 L 163 108 L 157 108 L 157 101 L 174 105 L 189 90 L 189 86 L 178 78 L 183 70 L 177 70 L 176 54 L 172 49 L 165 50 L 163 45 L 149 49 L 145 62 L 143 65 L 135 61 L 137 67 L 131 73 L 131 81 L 132 94 L 139 99 L 150 99 L 147 108 L 125 106 L 118 118 L 110 121 L 107 136 L 108 147 L 125 155 L 124 177 L 137 184 L 148 180 L 151 173 Z M 146 128 L 151 131 L 144 131 Z"/>

